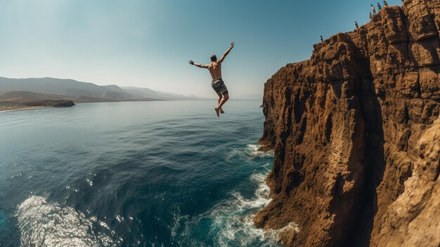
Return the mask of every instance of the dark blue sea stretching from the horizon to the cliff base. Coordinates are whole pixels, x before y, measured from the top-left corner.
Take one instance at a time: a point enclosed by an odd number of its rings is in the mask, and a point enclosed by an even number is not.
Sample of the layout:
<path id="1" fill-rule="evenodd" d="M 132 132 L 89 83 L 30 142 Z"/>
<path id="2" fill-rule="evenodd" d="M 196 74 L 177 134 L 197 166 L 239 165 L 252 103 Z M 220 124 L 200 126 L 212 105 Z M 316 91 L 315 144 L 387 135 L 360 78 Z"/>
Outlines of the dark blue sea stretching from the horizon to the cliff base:
<path id="1" fill-rule="evenodd" d="M 0 113 L 0 246 L 278 246 L 259 101 Z"/>

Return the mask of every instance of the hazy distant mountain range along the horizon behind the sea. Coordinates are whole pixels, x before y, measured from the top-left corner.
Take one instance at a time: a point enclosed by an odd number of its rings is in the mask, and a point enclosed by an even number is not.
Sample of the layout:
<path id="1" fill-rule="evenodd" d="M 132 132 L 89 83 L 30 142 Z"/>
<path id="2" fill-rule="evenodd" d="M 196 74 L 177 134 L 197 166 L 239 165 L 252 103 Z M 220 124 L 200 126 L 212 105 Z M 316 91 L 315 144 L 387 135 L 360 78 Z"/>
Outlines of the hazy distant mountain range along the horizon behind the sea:
<path id="1" fill-rule="evenodd" d="M 173 101 L 207 100 L 197 96 L 184 96 L 140 87 L 98 86 L 90 82 L 70 79 L 0 77 L 0 99 L 63 99 L 75 103 L 103 101 Z"/>

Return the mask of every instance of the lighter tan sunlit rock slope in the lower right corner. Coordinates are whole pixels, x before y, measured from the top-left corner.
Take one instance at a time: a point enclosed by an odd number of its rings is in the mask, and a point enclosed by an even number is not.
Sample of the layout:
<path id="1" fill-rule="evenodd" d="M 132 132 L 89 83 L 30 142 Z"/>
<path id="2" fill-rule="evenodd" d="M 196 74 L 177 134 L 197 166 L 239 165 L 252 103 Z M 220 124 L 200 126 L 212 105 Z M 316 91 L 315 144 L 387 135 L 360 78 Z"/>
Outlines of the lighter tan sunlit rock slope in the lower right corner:
<path id="1" fill-rule="evenodd" d="M 418 144 L 419 157 L 405 191 L 389 205 L 373 234 L 375 246 L 440 245 L 440 118 Z"/>

